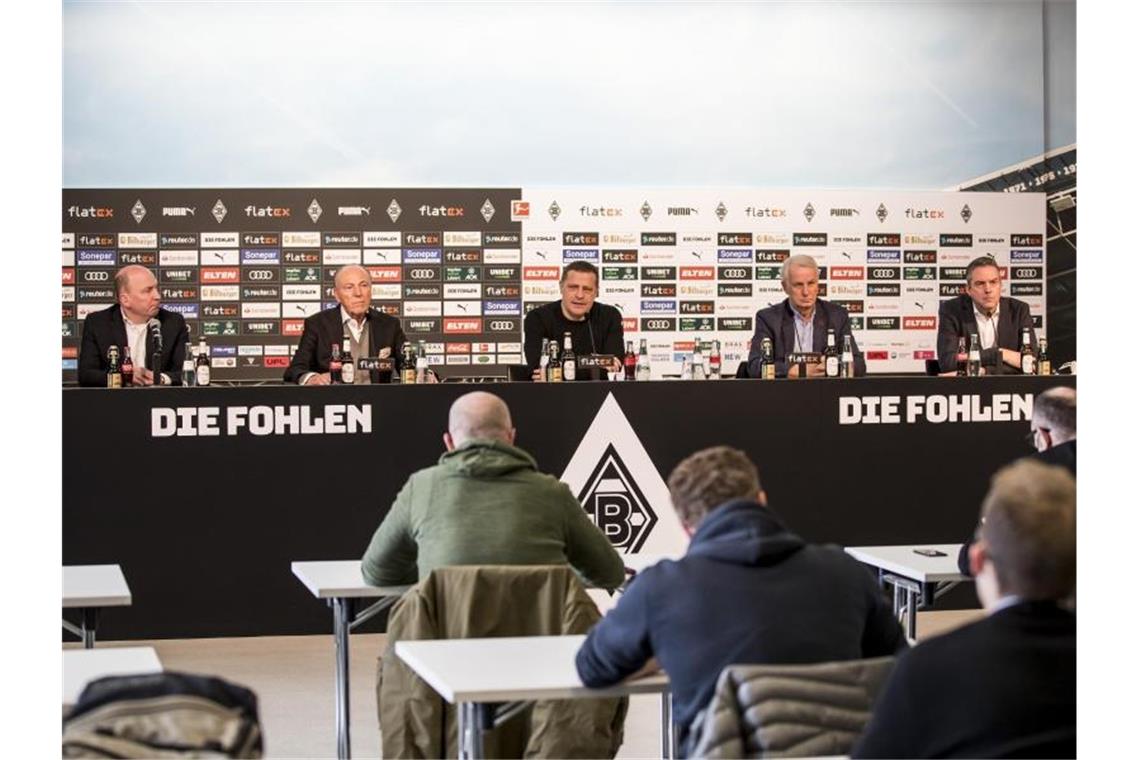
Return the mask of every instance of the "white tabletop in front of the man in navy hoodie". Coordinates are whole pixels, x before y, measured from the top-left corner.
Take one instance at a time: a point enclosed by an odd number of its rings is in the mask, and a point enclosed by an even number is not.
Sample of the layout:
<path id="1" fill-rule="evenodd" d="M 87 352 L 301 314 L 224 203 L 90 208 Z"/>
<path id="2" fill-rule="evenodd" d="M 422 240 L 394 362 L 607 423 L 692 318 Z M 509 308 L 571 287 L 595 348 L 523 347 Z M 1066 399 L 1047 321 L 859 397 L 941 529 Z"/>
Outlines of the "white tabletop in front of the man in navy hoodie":
<path id="1" fill-rule="evenodd" d="M 396 655 L 453 704 L 669 690 L 669 679 L 663 672 L 608 688 L 587 688 L 575 669 L 575 654 L 585 639 L 585 636 L 521 636 L 397 641 Z"/>

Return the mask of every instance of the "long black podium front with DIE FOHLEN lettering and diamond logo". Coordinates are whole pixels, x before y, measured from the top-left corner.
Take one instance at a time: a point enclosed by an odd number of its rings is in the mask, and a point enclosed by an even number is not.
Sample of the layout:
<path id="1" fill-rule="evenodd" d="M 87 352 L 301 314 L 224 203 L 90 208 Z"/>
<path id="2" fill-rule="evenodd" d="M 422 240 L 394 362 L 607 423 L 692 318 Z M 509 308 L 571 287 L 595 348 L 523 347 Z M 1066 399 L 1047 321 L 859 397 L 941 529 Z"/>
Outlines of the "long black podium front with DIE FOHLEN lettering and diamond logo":
<path id="1" fill-rule="evenodd" d="M 663 479 L 722 443 L 752 457 L 773 507 L 809 540 L 961 540 L 988 473 L 1029 452 L 1034 395 L 1074 384 L 870 377 L 492 390 L 511 407 L 519 446 L 562 477 L 613 545 L 657 555 L 685 544 Z M 104 614 L 100 635 L 327 632 L 327 608 L 290 562 L 359 557 L 408 474 L 438 460 L 447 409 L 467 390 L 66 390 L 64 564 L 120 563 L 135 598 Z M 112 443 L 114 457 L 98 456 Z M 119 461 L 132 463 L 130 493 Z"/>

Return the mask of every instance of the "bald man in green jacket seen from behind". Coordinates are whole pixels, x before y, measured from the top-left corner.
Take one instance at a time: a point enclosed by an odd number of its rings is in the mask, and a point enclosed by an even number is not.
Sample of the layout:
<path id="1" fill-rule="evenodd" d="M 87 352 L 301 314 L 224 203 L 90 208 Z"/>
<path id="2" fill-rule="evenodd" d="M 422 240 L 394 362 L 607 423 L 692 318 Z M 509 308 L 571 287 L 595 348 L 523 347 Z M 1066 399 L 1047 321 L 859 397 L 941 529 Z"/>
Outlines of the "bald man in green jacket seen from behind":
<path id="1" fill-rule="evenodd" d="M 447 451 L 400 489 L 360 563 L 365 580 L 406 586 L 447 565 L 570 564 L 589 586 L 619 587 L 617 550 L 567 484 L 514 446 L 514 434 L 498 397 L 459 397 Z"/>

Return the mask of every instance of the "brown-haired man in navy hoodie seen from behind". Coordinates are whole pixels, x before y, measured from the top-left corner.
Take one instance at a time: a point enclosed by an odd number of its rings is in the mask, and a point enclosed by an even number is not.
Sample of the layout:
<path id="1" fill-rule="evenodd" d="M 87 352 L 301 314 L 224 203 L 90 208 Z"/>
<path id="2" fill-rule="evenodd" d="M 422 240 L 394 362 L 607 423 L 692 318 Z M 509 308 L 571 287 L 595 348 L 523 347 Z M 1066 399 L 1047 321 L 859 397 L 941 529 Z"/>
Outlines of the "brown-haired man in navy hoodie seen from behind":
<path id="1" fill-rule="evenodd" d="M 586 686 L 616 684 L 656 657 L 669 675 L 677 743 L 730 664 L 812 663 L 906 648 L 874 578 L 837 547 L 813 546 L 767 506 L 736 449 L 690 456 L 669 496 L 692 542 L 634 578 L 578 652 Z"/>

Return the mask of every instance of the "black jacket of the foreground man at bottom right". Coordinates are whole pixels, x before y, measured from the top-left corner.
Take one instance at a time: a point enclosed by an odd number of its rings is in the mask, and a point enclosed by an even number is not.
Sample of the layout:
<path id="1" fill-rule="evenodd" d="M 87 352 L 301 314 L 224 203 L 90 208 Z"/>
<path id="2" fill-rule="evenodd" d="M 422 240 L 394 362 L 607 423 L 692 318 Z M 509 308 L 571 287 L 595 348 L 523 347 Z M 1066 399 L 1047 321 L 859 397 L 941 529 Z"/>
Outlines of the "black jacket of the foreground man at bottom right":
<path id="1" fill-rule="evenodd" d="M 905 653 L 852 757 L 1076 757 L 1076 615 L 1025 602 Z"/>

